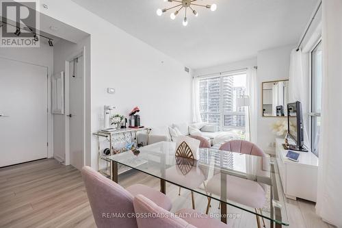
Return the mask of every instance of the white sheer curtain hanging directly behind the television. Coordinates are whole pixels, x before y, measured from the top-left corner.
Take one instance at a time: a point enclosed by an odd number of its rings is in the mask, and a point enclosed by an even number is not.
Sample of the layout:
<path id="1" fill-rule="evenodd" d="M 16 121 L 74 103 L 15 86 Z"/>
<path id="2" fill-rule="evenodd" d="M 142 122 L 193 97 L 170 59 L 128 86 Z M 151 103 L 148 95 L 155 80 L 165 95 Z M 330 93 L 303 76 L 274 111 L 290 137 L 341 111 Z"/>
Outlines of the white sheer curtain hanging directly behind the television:
<path id="1" fill-rule="evenodd" d="M 304 144 L 310 148 L 308 140 L 308 78 L 303 73 L 302 50 L 291 51 L 290 75 L 289 75 L 289 102 L 300 101 L 302 103 L 304 119 Z"/>

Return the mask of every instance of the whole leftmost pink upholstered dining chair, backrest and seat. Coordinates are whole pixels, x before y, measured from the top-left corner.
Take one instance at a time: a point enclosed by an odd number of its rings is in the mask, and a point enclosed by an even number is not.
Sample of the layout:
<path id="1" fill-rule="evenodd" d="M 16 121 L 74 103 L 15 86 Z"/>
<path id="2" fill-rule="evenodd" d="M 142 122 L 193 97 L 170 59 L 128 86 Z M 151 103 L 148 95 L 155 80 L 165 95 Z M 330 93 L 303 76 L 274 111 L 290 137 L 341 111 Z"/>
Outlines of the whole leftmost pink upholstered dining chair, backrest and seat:
<path id="1" fill-rule="evenodd" d="M 163 208 L 171 210 L 172 204 L 165 194 L 144 185 L 134 185 L 127 190 L 118 183 L 103 177 L 92 168 L 82 168 L 83 181 L 86 186 L 90 207 L 96 226 L 102 227 L 137 227 L 135 218 L 128 218 L 128 213 L 134 213 L 133 198 L 136 194 L 144 194 L 148 199 L 154 201 Z M 126 215 L 125 218 L 115 218 L 111 214 Z"/>

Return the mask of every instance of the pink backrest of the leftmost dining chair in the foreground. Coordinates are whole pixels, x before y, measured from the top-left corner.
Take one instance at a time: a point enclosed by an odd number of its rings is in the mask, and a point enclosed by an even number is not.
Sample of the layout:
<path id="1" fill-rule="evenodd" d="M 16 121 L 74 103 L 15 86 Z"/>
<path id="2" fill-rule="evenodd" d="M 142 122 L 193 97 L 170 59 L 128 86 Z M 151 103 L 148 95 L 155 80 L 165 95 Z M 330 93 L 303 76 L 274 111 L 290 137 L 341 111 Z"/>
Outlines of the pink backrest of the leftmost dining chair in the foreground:
<path id="1" fill-rule="evenodd" d="M 127 218 L 128 213 L 134 213 L 131 193 L 88 166 L 82 168 L 82 176 L 98 228 L 137 227 L 135 218 Z M 119 213 L 125 218 L 117 216 Z"/>

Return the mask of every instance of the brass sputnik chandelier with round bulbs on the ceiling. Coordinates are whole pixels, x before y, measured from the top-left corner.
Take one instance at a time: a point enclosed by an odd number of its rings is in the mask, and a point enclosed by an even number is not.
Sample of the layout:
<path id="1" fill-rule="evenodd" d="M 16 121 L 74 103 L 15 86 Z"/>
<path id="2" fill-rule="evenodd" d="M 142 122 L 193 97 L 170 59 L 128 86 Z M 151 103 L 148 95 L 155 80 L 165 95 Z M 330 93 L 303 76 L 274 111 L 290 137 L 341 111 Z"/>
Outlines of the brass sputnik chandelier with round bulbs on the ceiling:
<path id="1" fill-rule="evenodd" d="M 218 6 L 216 4 L 211 4 L 211 5 L 200 5 L 200 4 L 197 4 L 198 0 L 164 0 L 164 1 L 168 1 L 170 3 L 174 2 L 174 3 L 177 3 L 176 5 L 170 7 L 170 8 L 164 8 L 163 10 L 161 9 L 158 9 L 157 10 L 157 15 L 158 16 L 161 16 L 163 15 L 163 13 L 167 12 L 168 10 L 172 10 L 174 8 L 178 8 L 178 10 L 176 10 L 175 12 L 172 12 L 172 14 L 170 14 L 170 18 L 172 20 L 174 20 L 177 16 L 177 14 L 179 14 L 179 12 L 181 10 L 184 9 L 184 19 L 183 19 L 183 25 L 184 26 L 187 26 L 187 10 L 189 8 L 189 10 L 192 11 L 192 13 L 195 15 L 195 16 L 198 16 L 198 12 L 194 9 L 194 7 L 196 6 L 200 6 L 200 7 L 205 7 L 207 9 L 210 9 L 211 11 L 215 11 L 216 8 L 218 8 Z"/>

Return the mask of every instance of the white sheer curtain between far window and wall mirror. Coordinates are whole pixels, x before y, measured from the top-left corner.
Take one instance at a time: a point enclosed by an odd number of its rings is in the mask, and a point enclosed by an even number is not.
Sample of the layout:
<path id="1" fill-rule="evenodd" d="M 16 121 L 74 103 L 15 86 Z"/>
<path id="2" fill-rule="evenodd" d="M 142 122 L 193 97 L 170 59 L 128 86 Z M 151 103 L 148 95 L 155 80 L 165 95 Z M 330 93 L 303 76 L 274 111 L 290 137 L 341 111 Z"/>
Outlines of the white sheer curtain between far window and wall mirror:
<path id="1" fill-rule="evenodd" d="M 246 140 L 257 143 L 257 70 L 254 67 L 247 69 L 246 94 L 249 97 L 250 105 L 246 112 Z M 250 121 L 248 119 L 250 118 Z M 250 124 L 248 124 L 250 122 Z"/>

